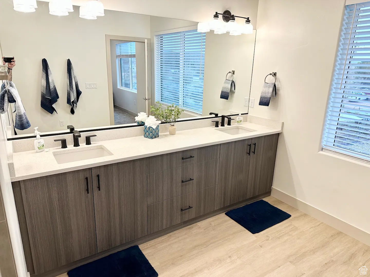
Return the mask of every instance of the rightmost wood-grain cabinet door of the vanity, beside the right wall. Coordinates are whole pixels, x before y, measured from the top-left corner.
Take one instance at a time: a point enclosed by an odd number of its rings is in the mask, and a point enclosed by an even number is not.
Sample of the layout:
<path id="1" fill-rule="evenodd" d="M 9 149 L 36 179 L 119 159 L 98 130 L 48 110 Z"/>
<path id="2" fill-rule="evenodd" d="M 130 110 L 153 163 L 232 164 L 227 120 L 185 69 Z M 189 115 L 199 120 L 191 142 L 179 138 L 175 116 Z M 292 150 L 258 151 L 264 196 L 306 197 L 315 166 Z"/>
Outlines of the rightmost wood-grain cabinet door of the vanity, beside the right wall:
<path id="1" fill-rule="evenodd" d="M 271 190 L 279 134 L 252 138 L 248 198 Z"/>

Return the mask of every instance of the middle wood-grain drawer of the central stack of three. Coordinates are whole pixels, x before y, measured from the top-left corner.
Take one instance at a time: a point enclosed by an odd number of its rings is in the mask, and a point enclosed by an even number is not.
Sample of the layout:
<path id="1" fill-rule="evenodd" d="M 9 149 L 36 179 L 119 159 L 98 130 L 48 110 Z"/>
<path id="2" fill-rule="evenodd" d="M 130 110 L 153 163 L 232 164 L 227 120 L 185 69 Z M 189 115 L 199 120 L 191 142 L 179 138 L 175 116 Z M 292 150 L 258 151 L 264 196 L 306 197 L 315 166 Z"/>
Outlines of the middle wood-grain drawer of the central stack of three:
<path id="1" fill-rule="evenodd" d="M 148 205 L 218 184 L 219 159 L 147 175 Z"/>

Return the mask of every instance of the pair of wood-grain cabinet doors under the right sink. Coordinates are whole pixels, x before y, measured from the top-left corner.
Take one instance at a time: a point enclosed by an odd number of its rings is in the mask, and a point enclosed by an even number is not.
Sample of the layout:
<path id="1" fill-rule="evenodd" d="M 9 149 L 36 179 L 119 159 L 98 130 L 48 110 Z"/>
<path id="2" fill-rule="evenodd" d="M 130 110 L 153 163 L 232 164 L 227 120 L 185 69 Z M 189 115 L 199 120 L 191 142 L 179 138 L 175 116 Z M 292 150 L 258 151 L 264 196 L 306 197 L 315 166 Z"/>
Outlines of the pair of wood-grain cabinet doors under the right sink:
<path id="1" fill-rule="evenodd" d="M 221 144 L 218 208 L 271 190 L 278 136 Z"/>

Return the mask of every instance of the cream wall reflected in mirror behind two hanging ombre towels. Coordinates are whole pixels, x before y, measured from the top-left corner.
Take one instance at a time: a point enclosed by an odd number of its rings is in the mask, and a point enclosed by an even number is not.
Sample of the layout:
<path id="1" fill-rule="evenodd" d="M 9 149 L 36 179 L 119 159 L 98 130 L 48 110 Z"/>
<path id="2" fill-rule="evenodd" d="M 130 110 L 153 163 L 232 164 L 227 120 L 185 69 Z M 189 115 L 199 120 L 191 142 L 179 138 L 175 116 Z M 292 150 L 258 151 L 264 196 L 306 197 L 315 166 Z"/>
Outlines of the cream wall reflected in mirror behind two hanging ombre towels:
<path id="1" fill-rule="evenodd" d="M 11 1 L 0 3 L 2 20 L 11 28 L 1 28 L 4 55 L 16 58 L 13 82 L 26 108 L 31 128 L 18 134 L 39 130 L 65 130 L 110 125 L 105 34 L 149 37 L 149 16 L 106 11 L 97 20 L 78 17 L 78 7 L 66 17 L 48 14 L 46 2 L 38 1 L 35 13 L 13 10 Z M 135 22 L 135 24 L 132 24 Z M 19 41 L 23 41 L 20 43 Z M 41 59 L 46 58 L 59 94 L 58 114 L 41 109 Z M 77 111 L 67 105 L 67 59 L 74 66 L 82 95 Z M 97 89 L 85 89 L 85 82 L 96 82 Z M 59 120 L 65 121 L 60 127 Z"/>

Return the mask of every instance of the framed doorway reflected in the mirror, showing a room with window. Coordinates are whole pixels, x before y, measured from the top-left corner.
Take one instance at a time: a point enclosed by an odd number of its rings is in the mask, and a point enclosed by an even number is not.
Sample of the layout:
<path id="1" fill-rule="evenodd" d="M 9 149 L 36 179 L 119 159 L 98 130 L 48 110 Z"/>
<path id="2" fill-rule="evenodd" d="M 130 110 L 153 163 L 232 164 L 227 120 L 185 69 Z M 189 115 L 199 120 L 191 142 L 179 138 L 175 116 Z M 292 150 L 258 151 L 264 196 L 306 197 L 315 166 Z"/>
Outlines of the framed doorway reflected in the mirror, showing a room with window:
<path id="1" fill-rule="evenodd" d="M 150 39 L 106 35 L 111 125 L 135 123 L 150 110 Z"/>

